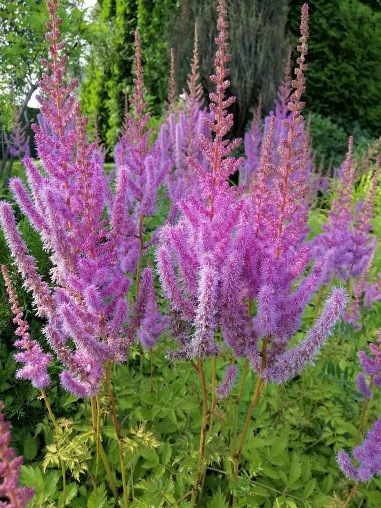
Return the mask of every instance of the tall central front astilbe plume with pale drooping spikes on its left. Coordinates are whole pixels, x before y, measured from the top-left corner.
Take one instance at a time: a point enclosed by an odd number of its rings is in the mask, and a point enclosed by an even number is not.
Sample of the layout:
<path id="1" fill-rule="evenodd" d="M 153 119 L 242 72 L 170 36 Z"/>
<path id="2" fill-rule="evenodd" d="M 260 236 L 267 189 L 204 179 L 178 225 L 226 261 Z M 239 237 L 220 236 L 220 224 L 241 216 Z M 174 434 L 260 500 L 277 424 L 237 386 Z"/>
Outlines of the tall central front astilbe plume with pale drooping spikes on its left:
<path id="1" fill-rule="evenodd" d="M 185 330 L 190 337 L 190 342 L 182 342 L 180 352 L 173 355 L 177 357 L 215 355 L 218 351 L 214 342 L 216 328 L 224 321 L 227 334 L 230 327 L 229 336 L 234 333 L 233 328 L 237 328 L 234 312 L 237 310 L 237 281 L 240 279 L 239 275 L 237 278 L 234 274 L 232 265 L 235 258 L 242 258 L 244 249 L 239 251 L 240 244 L 238 239 L 235 243 L 234 229 L 245 203 L 239 202 L 238 193 L 229 187 L 227 181 L 242 160 L 225 158 L 239 140 L 229 142 L 224 139 L 233 124 L 233 117 L 228 114 L 227 108 L 235 99 L 225 99 L 225 90 L 229 86 L 226 80 L 229 70 L 225 65 L 230 55 L 227 54 L 224 0 L 218 3 L 217 10 L 218 50 L 214 61 L 215 74 L 211 77 L 216 84 L 216 93 L 210 94 L 212 119 L 204 118 L 215 137 L 211 141 L 204 134 L 199 136 L 199 149 L 210 169 L 206 165 L 204 169 L 195 157 L 187 158 L 189 168 L 196 170 L 199 175 L 202 196 L 188 195 L 179 201 L 180 219 L 175 226 L 163 228 L 157 251 L 157 266 L 164 293 L 175 316 L 183 321 L 181 337 L 184 337 Z M 193 68 L 192 87 L 195 88 L 195 58 Z M 227 291 L 221 291 L 223 284 L 227 285 Z M 240 333 L 249 337 L 249 328 L 246 325 L 242 328 L 241 323 L 239 326 Z M 234 343 L 234 338 L 232 340 Z M 241 342 L 244 340 L 241 339 Z"/>

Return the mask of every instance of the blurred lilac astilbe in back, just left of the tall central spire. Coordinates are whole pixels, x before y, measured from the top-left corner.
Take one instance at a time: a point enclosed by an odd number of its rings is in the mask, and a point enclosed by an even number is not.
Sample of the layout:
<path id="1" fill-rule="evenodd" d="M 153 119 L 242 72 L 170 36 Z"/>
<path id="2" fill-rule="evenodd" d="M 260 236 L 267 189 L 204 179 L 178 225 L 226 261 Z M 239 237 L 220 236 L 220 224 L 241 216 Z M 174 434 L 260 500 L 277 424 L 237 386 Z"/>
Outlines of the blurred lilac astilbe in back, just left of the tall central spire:
<path id="1" fill-rule="evenodd" d="M 189 166 L 187 157 L 192 157 L 206 168 L 206 161 L 198 146 L 200 134 L 208 136 L 203 119 L 211 118 L 206 108 L 202 108 L 202 86 L 199 82 L 198 34 L 195 25 L 195 43 L 190 74 L 188 75 L 188 90 L 183 92 L 178 111 L 172 105 L 166 121 L 162 124 L 156 143 L 170 164 L 170 171 L 166 176 L 166 185 L 171 200 L 171 210 L 168 221 L 174 223 L 177 218 L 178 202 L 187 195 L 200 196 L 198 178 Z M 171 88 L 171 87 L 170 87 Z M 173 93 L 171 93 L 173 96 Z M 173 103 L 173 100 L 172 100 Z"/>

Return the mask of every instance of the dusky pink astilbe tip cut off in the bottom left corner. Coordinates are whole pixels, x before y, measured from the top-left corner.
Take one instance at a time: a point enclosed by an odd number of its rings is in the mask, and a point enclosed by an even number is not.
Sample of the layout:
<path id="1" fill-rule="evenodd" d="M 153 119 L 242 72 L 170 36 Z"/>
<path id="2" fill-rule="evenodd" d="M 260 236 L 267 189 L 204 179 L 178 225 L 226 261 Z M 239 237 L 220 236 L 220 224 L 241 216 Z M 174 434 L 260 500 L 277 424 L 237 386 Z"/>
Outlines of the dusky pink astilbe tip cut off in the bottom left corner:
<path id="1" fill-rule="evenodd" d="M 10 424 L 3 415 L 3 402 L 0 401 L 0 501 L 2 508 L 25 508 L 27 502 L 35 495 L 31 487 L 19 487 L 19 478 L 23 457 L 15 457 L 15 451 L 9 446 L 11 442 Z M 8 502 L 6 502 L 8 501 Z"/>

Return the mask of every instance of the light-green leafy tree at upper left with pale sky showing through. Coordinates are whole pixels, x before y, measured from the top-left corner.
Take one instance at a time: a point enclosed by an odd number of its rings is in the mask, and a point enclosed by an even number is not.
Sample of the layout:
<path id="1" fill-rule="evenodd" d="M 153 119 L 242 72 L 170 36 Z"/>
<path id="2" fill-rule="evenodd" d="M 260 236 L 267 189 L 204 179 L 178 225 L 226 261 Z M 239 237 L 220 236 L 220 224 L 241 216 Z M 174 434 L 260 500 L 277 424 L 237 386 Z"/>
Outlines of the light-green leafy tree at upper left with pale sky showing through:
<path id="1" fill-rule="evenodd" d="M 28 127 L 27 105 L 38 88 L 44 67 L 40 59 L 47 53 L 45 23 L 48 20 L 44 0 L 14 0 L 0 3 L 0 135 L 10 131 L 17 106 L 24 126 Z M 59 12 L 65 12 L 60 26 L 70 55 L 71 77 L 80 77 L 85 47 L 91 41 L 91 25 L 86 9 L 78 0 L 60 0 Z M 30 111 L 29 111 L 30 112 Z M 31 138 L 32 139 L 32 138 Z M 9 151 L 0 144 L 0 174 Z M 32 146 L 33 148 L 33 146 Z"/>

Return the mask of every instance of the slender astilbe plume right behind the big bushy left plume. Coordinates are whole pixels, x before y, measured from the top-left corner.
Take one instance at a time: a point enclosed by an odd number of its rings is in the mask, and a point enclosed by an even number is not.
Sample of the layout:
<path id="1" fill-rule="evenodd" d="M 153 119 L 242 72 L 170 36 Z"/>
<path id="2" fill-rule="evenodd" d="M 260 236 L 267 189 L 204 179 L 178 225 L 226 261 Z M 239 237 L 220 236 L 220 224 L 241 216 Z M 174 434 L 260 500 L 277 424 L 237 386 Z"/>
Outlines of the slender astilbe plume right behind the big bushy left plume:
<path id="1" fill-rule="evenodd" d="M 139 285 L 141 260 L 147 248 L 144 218 L 154 214 L 157 190 L 169 171 L 169 163 L 157 143 L 149 147 L 152 129 L 147 129 L 150 113 L 144 100 L 138 31 L 135 32 L 134 72 L 134 92 L 129 99 L 134 115 L 126 108 L 122 133 L 114 150 L 117 193 L 112 223 L 119 225 L 119 231 L 124 229 L 124 241 L 118 252 L 120 263 L 126 272 L 137 271 L 136 283 Z"/>

